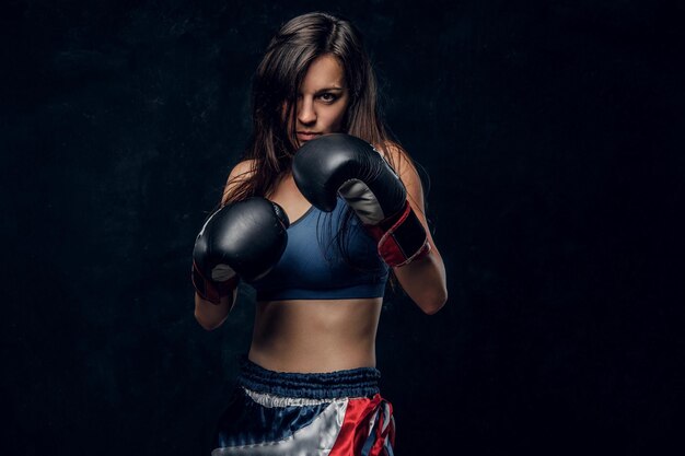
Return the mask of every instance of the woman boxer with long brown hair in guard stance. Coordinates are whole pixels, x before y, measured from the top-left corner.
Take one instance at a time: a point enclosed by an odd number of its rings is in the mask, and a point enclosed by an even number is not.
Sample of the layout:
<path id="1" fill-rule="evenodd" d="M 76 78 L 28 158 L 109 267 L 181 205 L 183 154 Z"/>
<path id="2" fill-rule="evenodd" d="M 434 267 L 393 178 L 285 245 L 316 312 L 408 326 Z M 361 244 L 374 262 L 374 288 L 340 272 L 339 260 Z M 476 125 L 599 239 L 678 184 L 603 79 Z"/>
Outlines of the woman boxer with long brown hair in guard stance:
<path id="1" fill-rule="evenodd" d="M 388 274 L 427 314 L 446 301 L 421 183 L 376 105 L 358 31 L 286 23 L 253 83 L 253 136 L 198 235 L 195 316 L 220 326 L 256 290 L 252 346 L 212 455 L 392 454 L 375 334 Z"/>

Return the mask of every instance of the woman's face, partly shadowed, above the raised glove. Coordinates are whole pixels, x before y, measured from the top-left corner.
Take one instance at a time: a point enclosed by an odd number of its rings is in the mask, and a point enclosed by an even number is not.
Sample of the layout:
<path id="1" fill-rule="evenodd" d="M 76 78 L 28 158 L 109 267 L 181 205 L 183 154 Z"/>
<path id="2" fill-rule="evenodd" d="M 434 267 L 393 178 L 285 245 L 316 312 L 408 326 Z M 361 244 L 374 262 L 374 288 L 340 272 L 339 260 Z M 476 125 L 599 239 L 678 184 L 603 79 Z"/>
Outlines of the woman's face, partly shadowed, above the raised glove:
<path id="1" fill-rule="evenodd" d="M 298 147 L 316 137 L 338 132 L 349 104 L 342 66 L 332 55 L 311 65 L 298 95 L 294 128 Z"/>

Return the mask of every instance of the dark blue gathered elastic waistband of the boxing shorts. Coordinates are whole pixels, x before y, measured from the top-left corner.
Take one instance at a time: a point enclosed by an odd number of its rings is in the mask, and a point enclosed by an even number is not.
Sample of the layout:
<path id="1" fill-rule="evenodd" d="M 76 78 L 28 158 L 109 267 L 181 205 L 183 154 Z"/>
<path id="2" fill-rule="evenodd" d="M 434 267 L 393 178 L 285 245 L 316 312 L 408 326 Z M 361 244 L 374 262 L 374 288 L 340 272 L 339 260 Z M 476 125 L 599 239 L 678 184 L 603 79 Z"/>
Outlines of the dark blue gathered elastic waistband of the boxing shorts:
<path id="1" fill-rule="evenodd" d="M 257 393 L 311 399 L 364 397 L 380 393 L 381 372 L 375 367 L 305 374 L 269 371 L 247 356 L 240 362 L 237 384 Z"/>

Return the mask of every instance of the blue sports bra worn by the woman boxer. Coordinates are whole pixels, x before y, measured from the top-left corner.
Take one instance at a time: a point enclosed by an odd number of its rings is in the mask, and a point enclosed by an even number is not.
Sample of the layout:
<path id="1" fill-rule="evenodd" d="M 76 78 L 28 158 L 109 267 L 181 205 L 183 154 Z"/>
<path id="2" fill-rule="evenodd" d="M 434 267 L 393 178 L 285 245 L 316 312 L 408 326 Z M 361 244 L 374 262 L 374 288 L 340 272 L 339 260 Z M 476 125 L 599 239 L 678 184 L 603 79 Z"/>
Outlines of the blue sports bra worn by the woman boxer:
<path id="1" fill-rule="evenodd" d="M 338 198 L 333 212 L 311 207 L 295 220 L 288 227 L 283 256 L 268 274 L 252 283 L 257 301 L 382 297 L 387 265 L 357 217 L 347 222 L 347 233 L 339 234 L 348 211 Z"/>

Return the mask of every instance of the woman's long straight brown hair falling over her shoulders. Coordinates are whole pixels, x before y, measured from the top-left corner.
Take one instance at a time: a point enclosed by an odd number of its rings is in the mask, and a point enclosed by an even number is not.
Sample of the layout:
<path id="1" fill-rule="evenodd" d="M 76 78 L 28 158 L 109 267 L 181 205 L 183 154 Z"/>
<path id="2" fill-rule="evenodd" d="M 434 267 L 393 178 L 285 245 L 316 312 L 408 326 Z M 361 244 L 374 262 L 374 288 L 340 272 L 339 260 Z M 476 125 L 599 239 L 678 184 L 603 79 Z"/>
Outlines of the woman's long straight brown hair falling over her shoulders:
<path id="1" fill-rule="evenodd" d="M 323 55 L 335 56 L 345 71 L 350 102 L 342 131 L 374 144 L 396 171 L 398 160 L 411 163 L 380 113 L 376 79 L 361 33 L 345 19 L 307 13 L 281 26 L 257 67 L 252 86 L 253 132 L 242 157 L 251 168 L 223 195 L 222 204 L 268 196 L 290 171 L 297 140 L 293 122 L 285 119 L 294 115 L 310 65 Z"/>

